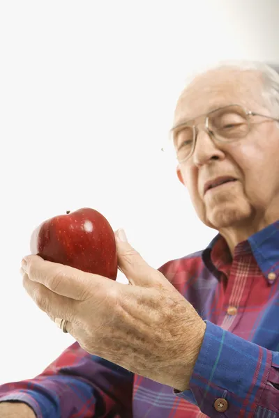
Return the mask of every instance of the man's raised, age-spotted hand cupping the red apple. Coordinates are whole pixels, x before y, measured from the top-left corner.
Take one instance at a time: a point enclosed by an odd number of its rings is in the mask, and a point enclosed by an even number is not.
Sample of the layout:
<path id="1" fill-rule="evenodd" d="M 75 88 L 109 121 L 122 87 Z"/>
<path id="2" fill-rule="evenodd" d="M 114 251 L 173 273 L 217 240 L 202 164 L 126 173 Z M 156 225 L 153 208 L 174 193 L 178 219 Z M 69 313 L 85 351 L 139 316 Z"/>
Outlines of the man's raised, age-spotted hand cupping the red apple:
<path id="1" fill-rule="evenodd" d="M 27 256 L 24 288 L 52 320 L 68 320 L 67 331 L 86 352 L 179 391 L 188 389 L 206 325 L 125 234 L 121 239 L 116 233 L 116 243 L 119 269 L 130 286 Z"/>

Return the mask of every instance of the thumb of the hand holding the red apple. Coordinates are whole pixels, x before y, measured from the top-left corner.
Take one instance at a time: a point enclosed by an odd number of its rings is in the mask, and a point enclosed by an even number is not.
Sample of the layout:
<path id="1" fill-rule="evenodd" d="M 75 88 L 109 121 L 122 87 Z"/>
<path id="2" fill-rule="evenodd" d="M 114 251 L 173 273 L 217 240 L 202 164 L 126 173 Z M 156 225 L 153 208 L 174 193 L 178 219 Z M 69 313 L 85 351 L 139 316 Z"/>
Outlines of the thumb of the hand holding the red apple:
<path id="1" fill-rule="evenodd" d="M 161 273 L 144 261 L 128 242 L 123 229 L 115 232 L 119 269 L 134 286 L 155 286 L 162 282 Z"/>

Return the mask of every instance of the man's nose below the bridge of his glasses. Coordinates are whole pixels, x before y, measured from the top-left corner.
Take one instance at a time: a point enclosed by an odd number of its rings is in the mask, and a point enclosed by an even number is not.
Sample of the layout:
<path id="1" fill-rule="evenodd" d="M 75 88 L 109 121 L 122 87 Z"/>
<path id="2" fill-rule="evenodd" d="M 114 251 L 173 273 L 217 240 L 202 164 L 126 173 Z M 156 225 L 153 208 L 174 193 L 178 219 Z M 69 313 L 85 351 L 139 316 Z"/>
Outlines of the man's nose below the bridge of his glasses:
<path id="1" fill-rule="evenodd" d="M 212 160 L 223 160 L 224 158 L 225 153 L 213 141 L 213 134 L 206 129 L 198 130 L 193 152 L 193 163 L 199 167 L 209 164 Z"/>

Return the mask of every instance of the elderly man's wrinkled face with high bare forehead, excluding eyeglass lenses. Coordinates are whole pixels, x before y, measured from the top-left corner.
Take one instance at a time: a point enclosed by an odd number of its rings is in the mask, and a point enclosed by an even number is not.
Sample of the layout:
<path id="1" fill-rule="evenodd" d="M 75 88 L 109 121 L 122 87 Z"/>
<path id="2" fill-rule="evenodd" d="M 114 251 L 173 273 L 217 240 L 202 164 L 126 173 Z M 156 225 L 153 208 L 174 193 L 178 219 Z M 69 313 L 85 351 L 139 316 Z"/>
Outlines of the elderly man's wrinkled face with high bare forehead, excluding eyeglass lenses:
<path id="1" fill-rule="evenodd" d="M 191 119 L 198 125 L 193 155 L 177 167 L 177 174 L 199 218 L 219 231 L 249 223 L 269 224 L 279 218 L 278 125 L 251 116 L 251 130 L 245 138 L 213 142 L 204 130 L 204 118 L 198 116 L 228 104 L 271 115 L 257 72 L 211 70 L 186 88 L 174 116 L 174 125 Z M 204 192 L 206 182 L 223 176 L 236 181 Z"/>

